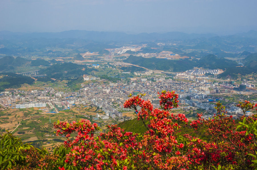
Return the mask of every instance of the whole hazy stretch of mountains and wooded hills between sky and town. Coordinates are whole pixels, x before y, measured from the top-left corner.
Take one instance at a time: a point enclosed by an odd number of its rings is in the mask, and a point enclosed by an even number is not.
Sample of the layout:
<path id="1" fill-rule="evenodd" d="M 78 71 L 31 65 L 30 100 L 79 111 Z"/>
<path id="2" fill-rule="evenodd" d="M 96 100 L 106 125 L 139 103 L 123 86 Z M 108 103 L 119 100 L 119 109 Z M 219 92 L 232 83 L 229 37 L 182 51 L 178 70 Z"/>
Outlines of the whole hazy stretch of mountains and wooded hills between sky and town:
<path id="1" fill-rule="evenodd" d="M 0 57 L 2 55 L 3 58 L 0 71 L 13 72 L 15 68 L 21 66 L 43 66 L 44 71 L 41 72 L 47 74 L 47 80 L 58 79 L 64 74 L 61 72 L 56 74 L 55 70 L 57 68 L 63 71 L 69 70 L 71 66 L 71 64 L 55 65 L 58 62 L 83 61 L 85 58 L 81 53 L 86 52 L 92 53 L 88 56 L 89 60 L 98 61 L 111 53 L 108 49 L 134 45 L 139 45 L 140 48 L 136 51 L 127 50 L 124 53 L 125 56 L 113 53 L 113 57 L 116 56 L 116 59 L 124 59 L 124 62 L 147 69 L 170 72 L 183 72 L 194 67 L 225 70 L 220 77 L 256 72 L 257 31 L 254 30 L 227 36 L 182 32 L 126 34 L 83 30 L 43 33 L 1 31 Z M 140 57 L 150 53 L 158 55 L 162 51 L 171 52 L 182 58 L 167 60 L 158 57 Z M 241 65 L 229 60 L 233 58 L 245 58 L 242 61 L 245 64 L 244 67 L 238 67 Z M 46 68 L 50 64 L 53 66 Z M 81 66 L 76 64 L 72 67 L 81 69 Z M 77 78 L 83 75 L 81 71 L 79 74 L 74 72 L 76 71 L 70 70 L 65 73 L 65 76 L 72 75 Z"/>

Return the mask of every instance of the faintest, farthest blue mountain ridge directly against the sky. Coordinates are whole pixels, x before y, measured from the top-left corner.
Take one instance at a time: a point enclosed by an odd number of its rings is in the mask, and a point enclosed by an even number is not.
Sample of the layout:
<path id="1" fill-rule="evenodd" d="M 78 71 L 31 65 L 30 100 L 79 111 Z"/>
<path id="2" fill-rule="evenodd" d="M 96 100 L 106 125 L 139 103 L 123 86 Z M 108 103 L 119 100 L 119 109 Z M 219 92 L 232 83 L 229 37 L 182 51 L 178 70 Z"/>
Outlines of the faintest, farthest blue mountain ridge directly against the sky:
<path id="1" fill-rule="evenodd" d="M 85 30 L 70 30 L 63 32 L 43 32 L 43 33 L 22 33 L 1 31 L 0 39 L 13 38 L 79 38 L 95 41 L 156 41 L 156 40 L 188 40 L 194 38 L 210 38 L 217 36 L 216 34 L 186 34 L 183 32 L 167 32 L 167 33 L 140 33 L 126 34 L 123 32 L 99 32 Z"/>

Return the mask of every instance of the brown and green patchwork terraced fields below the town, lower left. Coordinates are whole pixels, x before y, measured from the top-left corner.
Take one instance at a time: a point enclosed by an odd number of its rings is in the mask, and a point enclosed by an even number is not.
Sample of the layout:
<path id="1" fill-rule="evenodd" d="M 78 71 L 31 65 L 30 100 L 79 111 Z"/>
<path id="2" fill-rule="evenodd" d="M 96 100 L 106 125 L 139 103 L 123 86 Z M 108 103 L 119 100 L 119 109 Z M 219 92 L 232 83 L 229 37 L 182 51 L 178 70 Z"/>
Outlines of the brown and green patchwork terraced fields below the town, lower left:
<path id="1" fill-rule="evenodd" d="M 56 144 L 61 144 L 65 138 L 55 136 L 53 123 L 60 121 L 73 122 L 78 119 L 89 119 L 92 123 L 98 123 L 102 130 L 106 125 L 117 123 L 115 120 L 97 120 L 92 118 L 96 113 L 102 113 L 96 107 L 90 105 L 77 105 L 69 110 L 59 111 L 59 113 L 46 113 L 39 108 L 12 109 L 6 108 L 0 111 L 0 133 L 4 130 L 12 132 L 24 142 L 33 142 L 34 146 L 47 147 L 50 150 Z M 16 128 L 16 129 L 15 129 Z M 97 135 L 97 133 L 96 133 Z"/>

